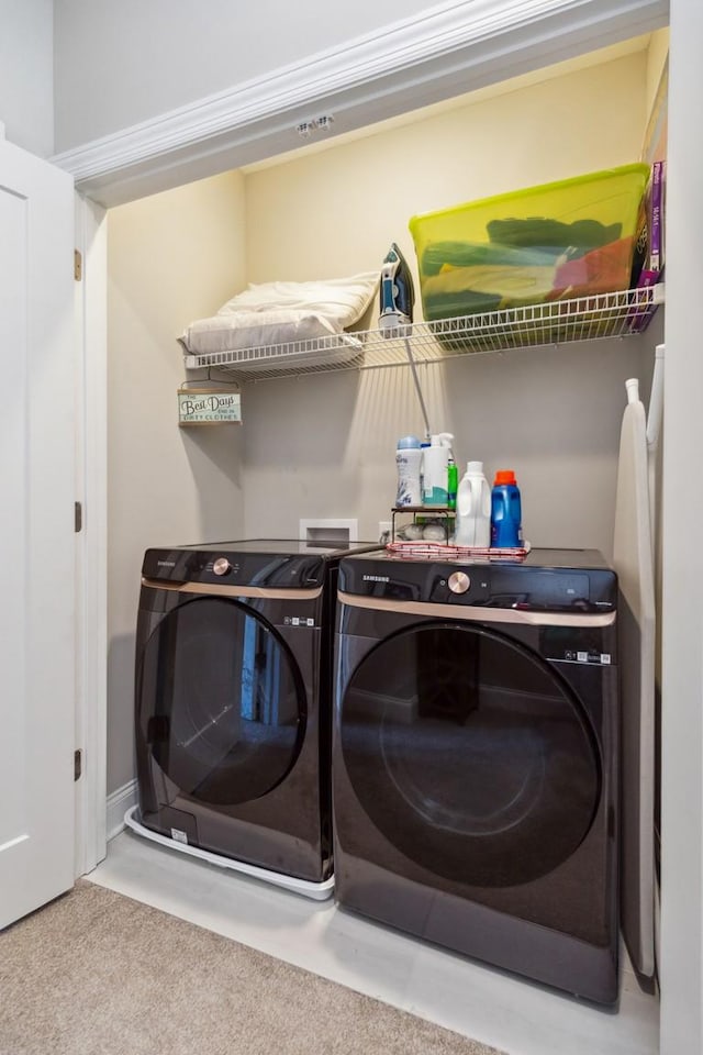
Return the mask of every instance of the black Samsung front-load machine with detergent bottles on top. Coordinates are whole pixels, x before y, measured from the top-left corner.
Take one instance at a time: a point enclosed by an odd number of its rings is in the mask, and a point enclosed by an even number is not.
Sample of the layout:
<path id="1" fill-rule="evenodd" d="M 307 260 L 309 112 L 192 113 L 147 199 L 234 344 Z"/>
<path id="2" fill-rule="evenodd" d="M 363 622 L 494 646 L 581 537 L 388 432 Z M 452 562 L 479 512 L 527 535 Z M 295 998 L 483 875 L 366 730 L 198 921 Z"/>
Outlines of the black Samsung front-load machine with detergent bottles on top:
<path id="1" fill-rule="evenodd" d="M 615 1002 L 615 574 L 384 552 L 342 562 L 339 601 L 339 903 Z"/>

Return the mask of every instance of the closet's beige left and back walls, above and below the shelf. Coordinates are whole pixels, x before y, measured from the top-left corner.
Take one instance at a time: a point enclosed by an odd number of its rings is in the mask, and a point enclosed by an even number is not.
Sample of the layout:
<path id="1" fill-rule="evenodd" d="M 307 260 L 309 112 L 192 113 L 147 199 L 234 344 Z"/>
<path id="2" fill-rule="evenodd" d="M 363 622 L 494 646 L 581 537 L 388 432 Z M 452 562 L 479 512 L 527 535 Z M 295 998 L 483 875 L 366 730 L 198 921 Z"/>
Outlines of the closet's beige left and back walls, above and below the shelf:
<path id="1" fill-rule="evenodd" d="M 242 426 L 179 430 L 181 329 L 247 280 L 380 267 L 392 241 L 414 267 L 416 212 L 637 159 L 646 82 L 638 52 L 109 213 L 109 791 L 133 776 L 144 549 L 297 536 L 302 518 L 358 518 L 359 536 L 376 538 L 395 441 L 424 432 L 404 368 L 247 384 Z M 432 427 L 455 434 L 459 465 L 515 469 L 533 545 L 610 552 L 624 382 L 639 376 L 647 393 L 660 326 L 421 369 Z"/>

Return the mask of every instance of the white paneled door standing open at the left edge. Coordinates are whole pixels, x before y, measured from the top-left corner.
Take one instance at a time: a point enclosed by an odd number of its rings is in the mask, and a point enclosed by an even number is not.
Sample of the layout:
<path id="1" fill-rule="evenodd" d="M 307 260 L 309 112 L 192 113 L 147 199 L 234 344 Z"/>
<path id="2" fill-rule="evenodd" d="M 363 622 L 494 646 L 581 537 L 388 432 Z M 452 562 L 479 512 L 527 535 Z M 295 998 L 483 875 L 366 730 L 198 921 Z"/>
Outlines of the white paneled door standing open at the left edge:
<path id="1" fill-rule="evenodd" d="M 0 131 L 0 926 L 74 882 L 72 242 L 71 177 Z"/>

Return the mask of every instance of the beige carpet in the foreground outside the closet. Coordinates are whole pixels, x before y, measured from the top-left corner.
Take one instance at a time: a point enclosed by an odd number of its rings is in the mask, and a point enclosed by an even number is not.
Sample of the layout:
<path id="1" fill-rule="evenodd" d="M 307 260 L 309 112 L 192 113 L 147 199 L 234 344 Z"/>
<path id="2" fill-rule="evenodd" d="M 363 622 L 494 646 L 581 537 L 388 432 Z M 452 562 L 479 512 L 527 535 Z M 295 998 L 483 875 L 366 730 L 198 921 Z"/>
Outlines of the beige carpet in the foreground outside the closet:
<path id="1" fill-rule="evenodd" d="M 0 1055 L 491 1055 L 92 882 L 0 933 Z"/>

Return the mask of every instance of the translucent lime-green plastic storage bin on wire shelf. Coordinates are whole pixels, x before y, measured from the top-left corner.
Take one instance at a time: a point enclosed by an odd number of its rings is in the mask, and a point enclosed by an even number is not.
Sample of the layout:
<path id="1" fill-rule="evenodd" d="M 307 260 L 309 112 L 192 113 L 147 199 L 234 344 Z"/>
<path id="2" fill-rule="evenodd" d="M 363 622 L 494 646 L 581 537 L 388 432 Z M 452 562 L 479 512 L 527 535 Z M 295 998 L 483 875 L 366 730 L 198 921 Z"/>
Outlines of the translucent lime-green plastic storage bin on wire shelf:
<path id="1" fill-rule="evenodd" d="M 627 289 L 648 165 L 413 216 L 427 321 Z"/>

